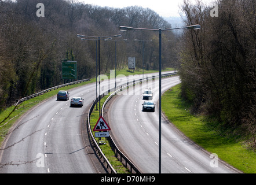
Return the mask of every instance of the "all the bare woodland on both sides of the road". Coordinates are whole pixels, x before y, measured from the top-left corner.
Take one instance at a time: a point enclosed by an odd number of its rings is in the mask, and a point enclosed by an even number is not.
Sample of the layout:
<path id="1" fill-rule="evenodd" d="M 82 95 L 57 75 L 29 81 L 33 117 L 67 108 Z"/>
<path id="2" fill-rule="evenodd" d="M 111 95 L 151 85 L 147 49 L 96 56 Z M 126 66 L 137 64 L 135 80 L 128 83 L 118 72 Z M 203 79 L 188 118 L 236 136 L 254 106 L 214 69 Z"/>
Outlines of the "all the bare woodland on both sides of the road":
<path id="1" fill-rule="evenodd" d="M 38 17 L 36 0 L 0 0 L 0 110 L 36 91 L 65 83 L 61 62 L 78 62 L 78 79 L 96 75 L 96 42 L 76 34 L 118 38 L 117 68 L 127 68 L 136 57 L 136 70 L 159 68 L 158 34 L 119 31 L 120 25 L 137 28 L 171 28 L 151 9 L 140 6 L 109 8 L 77 1 L 41 0 L 45 16 Z M 248 140 L 256 147 L 256 77 L 254 0 L 218 0 L 217 12 L 200 0 L 184 0 L 180 9 L 184 25 L 201 29 L 162 34 L 162 68 L 178 69 L 181 97 L 191 112 L 215 121 L 222 135 Z M 217 14 L 216 14 L 217 13 Z M 115 42 L 101 40 L 101 72 L 115 68 Z M 127 39 L 126 41 L 122 39 Z M 145 40 L 143 42 L 137 40 Z"/>

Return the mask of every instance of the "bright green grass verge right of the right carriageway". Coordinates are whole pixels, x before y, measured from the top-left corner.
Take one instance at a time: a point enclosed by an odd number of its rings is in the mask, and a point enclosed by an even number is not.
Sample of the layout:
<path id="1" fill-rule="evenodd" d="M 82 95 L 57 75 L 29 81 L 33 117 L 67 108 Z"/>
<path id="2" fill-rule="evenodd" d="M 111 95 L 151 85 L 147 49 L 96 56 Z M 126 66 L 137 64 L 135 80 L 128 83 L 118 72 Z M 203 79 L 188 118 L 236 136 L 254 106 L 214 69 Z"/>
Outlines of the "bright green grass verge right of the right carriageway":
<path id="1" fill-rule="evenodd" d="M 247 150 L 242 141 L 218 135 L 208 127 L 209 119 L 189 112 L 189 103 L 180 98 L 180 84 L 166 91 L 162 97 L 162 110 L 167 118 L 188 138 L 221 160 L 243 171 L 256 173 L 256 153 Z"/>

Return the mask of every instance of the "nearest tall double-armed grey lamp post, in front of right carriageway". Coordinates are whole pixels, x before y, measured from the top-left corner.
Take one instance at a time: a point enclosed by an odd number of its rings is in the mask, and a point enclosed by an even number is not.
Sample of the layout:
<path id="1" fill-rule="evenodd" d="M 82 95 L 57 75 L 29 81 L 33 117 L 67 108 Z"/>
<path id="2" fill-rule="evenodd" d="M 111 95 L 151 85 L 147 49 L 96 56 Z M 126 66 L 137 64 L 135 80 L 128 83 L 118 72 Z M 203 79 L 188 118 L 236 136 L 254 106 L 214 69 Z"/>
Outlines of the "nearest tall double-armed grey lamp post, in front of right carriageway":
<path id="1" fill-rule="evenodd" d="M 120 26 L 120 31 L 131 31 L 131 30 L 147 30 L 147 31 L 158 31 L 159 32 L 159 173 L 161 173 L 161 86 L 162 86 L 162 31 L 168 31 L 173 29 L 200 29 L 201 26 L 199 24 L 189 25 L 186 27 L 180 28 L 167 28 L 167 29 L 149 29 L 149 28 L 133 28 L 133 27 L 125 27 Z"/>

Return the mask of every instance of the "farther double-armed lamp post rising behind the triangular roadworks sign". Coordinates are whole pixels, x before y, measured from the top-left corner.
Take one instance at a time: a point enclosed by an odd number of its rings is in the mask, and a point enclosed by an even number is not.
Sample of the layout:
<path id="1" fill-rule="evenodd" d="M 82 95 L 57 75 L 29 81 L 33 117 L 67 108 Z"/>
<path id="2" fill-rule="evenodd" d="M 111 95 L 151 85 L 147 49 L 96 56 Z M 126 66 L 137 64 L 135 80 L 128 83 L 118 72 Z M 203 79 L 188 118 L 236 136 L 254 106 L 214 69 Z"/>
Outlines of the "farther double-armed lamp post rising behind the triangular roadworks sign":
<path id="1" fill-rule="evenodd" d="M 122 35 L 111 35 L 111 36 L 89 36 L 89 35 L 81 35 L 81 34 L 76 34 L 78 38 L 97 38 L 98 39 L 98 76 L 100 77 L 100 40 L 103 39 L 112 39 L 112 37 L 121 37 Z M 96 77 L 97 79 L 97 77 Z M 98 106 L 99 106 L 99 115 L 101 116 L 101 111 L 100 111 L 100 99 L 101 99 L 101 94 L 100 94 L 100 81 L 101 79 L 98 80 Z"/>

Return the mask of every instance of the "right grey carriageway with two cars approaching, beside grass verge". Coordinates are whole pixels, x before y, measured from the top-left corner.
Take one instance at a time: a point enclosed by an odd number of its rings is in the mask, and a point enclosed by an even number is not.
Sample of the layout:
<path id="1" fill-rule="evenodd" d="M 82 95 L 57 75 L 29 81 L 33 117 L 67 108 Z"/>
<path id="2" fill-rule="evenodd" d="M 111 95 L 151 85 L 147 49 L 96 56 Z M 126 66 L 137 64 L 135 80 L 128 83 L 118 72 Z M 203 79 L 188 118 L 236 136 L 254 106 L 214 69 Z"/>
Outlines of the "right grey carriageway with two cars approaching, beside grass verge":
<path id="1" fill-rule="evenodd" d="M 162 92 L 180 83 L 178 76 L 162 79 Z M 151 87 L 156 111 L 142 112 L 142 91 Z M 142 173 L 159 172 L 159 83 L 148 82 L 116 95 L 107 114 L 111 135 Z M 195 145 L 162 117 L 162 173 L 235 173 L 231 166 Z M 216 167 L 218 166 L 218 167 Z"/>

